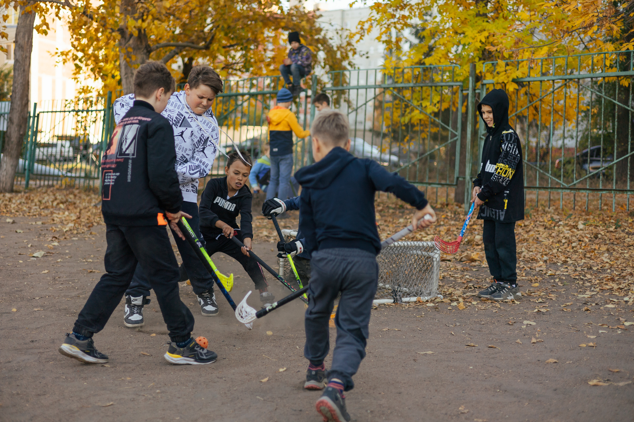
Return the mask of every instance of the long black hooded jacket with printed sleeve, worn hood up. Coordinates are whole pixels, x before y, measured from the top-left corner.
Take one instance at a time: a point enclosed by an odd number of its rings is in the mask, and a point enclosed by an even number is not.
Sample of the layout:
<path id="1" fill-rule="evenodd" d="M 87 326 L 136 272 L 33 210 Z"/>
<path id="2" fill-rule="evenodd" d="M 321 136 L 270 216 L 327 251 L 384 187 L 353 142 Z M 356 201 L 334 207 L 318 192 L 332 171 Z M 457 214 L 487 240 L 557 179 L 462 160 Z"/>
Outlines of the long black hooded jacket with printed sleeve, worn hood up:
<path id="1" fill-rule="evenodd" d="M 482 118 L 482 104 L 493 109 L 493 127 Z M 482 147 L 482 166 L 474 180 L 481 187 L 477 195 L 479 220 L 503 223 L 524 220 L 524 166 L 522 145 L 515 130 L 508 124 L 508 96 L 502 89 L 494 89 L 480 101 L 477 109 L 488 135 Z"/>

